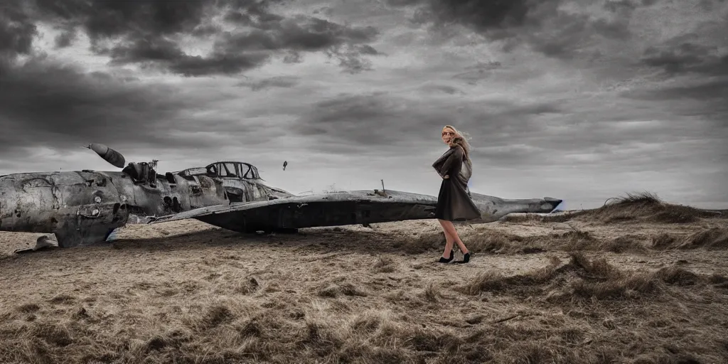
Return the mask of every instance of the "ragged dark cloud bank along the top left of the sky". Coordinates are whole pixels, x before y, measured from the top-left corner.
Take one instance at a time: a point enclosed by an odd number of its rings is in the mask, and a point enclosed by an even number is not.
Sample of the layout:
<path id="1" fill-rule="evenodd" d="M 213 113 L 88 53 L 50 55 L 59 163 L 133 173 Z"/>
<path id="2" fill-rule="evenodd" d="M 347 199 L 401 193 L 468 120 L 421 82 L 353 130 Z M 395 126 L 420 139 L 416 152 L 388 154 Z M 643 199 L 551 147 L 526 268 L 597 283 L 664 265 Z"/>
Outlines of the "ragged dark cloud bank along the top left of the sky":
<path id="1" fill-rule="evenodd" d="M 366 45 L 376 38 L 376 28 L 270 12 L 270 7 L 283 2 L 29 1 L 11 12 L 22 22 L 0 30 L 0 47 L 27 52 L 33 22 L 44 22 L 61 29 L 57 47 L 71 46 L 76 32 L 82 31 L 90 39 L 91 50 L 108 56 L 114 65 L 137 64 L 183 76 L 239 74 L 263 66 L 272 57 L 285 57 L 287 52 L 327 51 L 341 60 L 345 71 L 370 69 L 352 65 L 367 63 L 364 55 L 376 55 L 376 50 L 372 52 L 373 47 Z M 222 24 L 214 20 L 220 16 Z M 184 50 L 185 35 L 213 39 L 212 50 L 204 54 Z"/>

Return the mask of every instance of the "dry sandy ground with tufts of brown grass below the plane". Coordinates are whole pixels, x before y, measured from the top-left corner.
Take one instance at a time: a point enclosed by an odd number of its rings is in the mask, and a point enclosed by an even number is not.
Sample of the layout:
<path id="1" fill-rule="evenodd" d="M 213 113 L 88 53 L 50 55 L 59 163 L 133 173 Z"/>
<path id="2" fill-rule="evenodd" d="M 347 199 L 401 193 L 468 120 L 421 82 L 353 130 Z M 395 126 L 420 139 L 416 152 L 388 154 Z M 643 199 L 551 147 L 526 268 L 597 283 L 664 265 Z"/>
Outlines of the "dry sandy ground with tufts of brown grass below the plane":
<path id="1" fill-rule="evenodd" d="M 726 218 L 458 226 L 470 264 L 438 227 L 2 232 L 0 362 L 728 363 Z"/>

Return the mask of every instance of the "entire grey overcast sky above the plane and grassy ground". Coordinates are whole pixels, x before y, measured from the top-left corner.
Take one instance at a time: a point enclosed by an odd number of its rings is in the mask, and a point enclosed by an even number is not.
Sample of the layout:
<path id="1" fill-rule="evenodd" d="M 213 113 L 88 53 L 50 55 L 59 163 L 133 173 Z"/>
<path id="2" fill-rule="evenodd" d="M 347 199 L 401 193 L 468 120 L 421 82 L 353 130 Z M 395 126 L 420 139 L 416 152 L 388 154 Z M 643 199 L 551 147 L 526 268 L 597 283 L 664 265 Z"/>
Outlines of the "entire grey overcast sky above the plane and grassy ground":
<path id="1" fill-rule="evenodd" d="M 6 0 L 0 174 L 250 162 L 273 186 L 728 207 L 725 0 Z M 288 167 L 282 170 L 282 162 Z"/>

